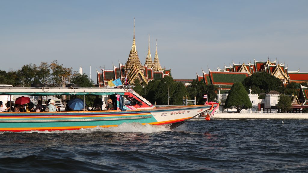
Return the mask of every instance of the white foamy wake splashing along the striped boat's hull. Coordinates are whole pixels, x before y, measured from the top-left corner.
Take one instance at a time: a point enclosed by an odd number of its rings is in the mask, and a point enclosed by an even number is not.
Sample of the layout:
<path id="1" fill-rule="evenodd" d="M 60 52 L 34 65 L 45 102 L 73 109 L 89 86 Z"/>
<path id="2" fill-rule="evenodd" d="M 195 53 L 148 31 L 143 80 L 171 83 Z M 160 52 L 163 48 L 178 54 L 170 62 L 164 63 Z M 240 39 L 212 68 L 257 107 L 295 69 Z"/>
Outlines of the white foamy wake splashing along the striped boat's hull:
<path id="1" fill-rule="evenodd" d="M 23 131 L 23 132 L 17 132 L 17 133 L 68 133 L 68 134 L 74 134 L 74 133 L 95 133 L 95 132 L 116 132 L 116 133 L 158 133 L 162 131 L 170 131 L 170 129 L 166 126 L 156 126 L 156 125 L 150 125 L 145 124 L 142 125 L 141 123 L 123 123 L 119 125 L 118 127 L 95 127 L 95 128 L 86 128 L 86 129 L 79 129 L 79 130 L 64 130 L 64 131 Z M 16 133 L 16 132 L 0 132 L 0 134 L 4 133 Z"/>

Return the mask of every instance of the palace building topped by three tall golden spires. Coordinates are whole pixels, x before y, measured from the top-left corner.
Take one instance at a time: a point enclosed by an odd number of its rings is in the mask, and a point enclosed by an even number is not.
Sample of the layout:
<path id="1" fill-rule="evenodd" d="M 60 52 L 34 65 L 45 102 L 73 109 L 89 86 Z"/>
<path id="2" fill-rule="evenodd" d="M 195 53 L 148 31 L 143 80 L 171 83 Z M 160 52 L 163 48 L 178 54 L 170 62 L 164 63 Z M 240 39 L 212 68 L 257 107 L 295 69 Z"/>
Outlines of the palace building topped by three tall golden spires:
<path id="1" fill-rule="evenodd" d="M 125 77 L 127 77 L 128 83 L 134 83 L 135 79 L 139 79 L 140 82 L 148 83 L 151 80 L 162 79 L 164 76 L 171 76 L 171 69 L 166 70 L 162 68 L 157 54 L 157 40 L 156 40 L 156 52 L 154 61 L 152 61 L 150 51 L 150 34 L 149 34 L 149 46 L 148 54 L 145 59 L 144 65 L 141 64 L 138 51 L 136 49 L 135 40 L 135 20 L 134 20 L 134 37 L 132 49 L 129 52 L 128 59 L 125 65 L 119 62 L 119 66 L 113 65 L 113 70 L 100 69 L 97 71 L 97 84 L 99 87 L 105 87 L 108 85 L 108 81 L 120 78 L 124 83 Z"/>

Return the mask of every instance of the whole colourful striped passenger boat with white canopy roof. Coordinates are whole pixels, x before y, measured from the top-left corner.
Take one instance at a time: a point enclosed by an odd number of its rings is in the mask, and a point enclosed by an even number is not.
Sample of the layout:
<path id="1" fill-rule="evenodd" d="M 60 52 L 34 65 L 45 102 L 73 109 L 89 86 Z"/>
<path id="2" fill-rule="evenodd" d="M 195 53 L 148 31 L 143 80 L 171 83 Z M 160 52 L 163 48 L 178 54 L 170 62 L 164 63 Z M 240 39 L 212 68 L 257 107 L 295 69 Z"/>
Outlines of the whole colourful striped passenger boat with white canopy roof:
<path id="1" fill-rule="evenodd" d="M 101 95 L 114 99 L 113 111 L 0 112 L 0 131 L 13 132 L 116 127 L 122 123 L 165 125 L 173 129 L 213 109 L 213 105 L 155 107 L 135 91 L 125 88 L 3 87 L 0 95 Z M 133 100 L 137 103 L 128 104 Z"/>

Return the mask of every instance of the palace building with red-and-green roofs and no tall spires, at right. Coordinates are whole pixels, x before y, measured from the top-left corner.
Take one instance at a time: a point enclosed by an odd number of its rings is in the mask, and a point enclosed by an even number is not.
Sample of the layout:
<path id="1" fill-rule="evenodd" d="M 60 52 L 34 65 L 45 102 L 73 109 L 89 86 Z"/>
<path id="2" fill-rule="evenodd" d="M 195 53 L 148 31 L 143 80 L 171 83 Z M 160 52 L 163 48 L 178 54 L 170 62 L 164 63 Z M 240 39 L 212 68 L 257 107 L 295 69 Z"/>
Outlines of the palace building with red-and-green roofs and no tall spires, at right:
<path id="1" fill-rule="evenodd" d="M 289 82 L 307 82 L 308 73 L 300 73 L 298 71 L 288 71 L 288 66 L 285 64 L 277 63 L 277 60 L 270 61 L 256 61 L 249 62 L 248 64 L 235 64 L 233 66 L 225 66 L 224 69 L 217 68 L 217 71 L 211 71 L 205 73 L 202 70 L 202 76 L 197 74 L 199 81 L 203 80 L 205 84 L 213 84 L 215 86 L 221 86 L 221 91 L 230 90 L 234 82 L 242 82 L 244 79 L 254 73 L 267 72 L 277 78 L 279 78 L 284 85 Z"/>

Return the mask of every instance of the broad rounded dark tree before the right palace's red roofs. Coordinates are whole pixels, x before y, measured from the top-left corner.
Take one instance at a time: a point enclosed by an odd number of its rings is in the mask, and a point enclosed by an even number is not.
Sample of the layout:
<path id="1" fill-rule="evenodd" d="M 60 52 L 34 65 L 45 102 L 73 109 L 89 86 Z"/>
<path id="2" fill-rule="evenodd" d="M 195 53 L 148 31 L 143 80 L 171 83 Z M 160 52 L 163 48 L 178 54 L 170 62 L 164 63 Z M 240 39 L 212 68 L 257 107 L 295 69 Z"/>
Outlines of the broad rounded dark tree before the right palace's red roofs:
<path id="1" fill-rule="evenodd" d="M 245 78 L 242 82 L 245 86 L 246 91 L 249 91 L 249 86 L 253 90 L 253 93 L 260 94 L 268 91 L 278 91 L 280 93 L 283 92 L 282 81 L 275 76 L 262 72 L 262 73 L 254 73 L 251 76 Z"/>

